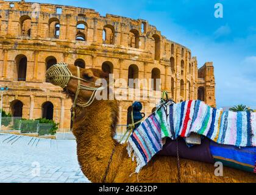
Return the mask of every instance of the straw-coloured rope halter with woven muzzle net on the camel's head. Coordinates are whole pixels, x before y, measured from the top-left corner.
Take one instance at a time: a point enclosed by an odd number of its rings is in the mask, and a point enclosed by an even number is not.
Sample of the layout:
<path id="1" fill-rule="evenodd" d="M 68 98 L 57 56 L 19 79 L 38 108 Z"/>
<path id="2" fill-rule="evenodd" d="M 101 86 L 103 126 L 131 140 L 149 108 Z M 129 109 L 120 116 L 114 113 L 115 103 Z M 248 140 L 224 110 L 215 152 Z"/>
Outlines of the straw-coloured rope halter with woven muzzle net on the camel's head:
<path id="1" fill-rule="evenodd" d="M 104 88 L 105 88 L 105 87 L 103 87 L 102 85 L 100 85 L 98 83 L 94 83 L 94 82 L 90 82 L 89 80 L 81 79 L 80 78 L 80 68 L 79 68 L 79 66 L 76 66 L 76 68 L 77 68 L 77 76 L 73 76 L 71 71 L 69 71 L 69 69 L 68 69 L 68 65 L 66 63 L 62 63 L 62 62 L 57 63 L 55 65 L 52 65 L 46 71 L 46 79 L 49 80 L 52 84 L 60 86 L 62 88 L 65 88 L 65 87 L 68 86 L 68 82 L 71 78 L 77 79 L 76 94 L 75 94 L 74 102 L 73 102 L 73 105 L 72 105 L 72 113 L 73 113 L 72 120 L 73 121 L 74 121 L 74 109 L 73 108 L 75 108 L 76 105 L 79 106 L 79 107 L 88 107 L 89 105 L 91 105 L 91 103 L 93 103 L 93 101 L 96 97 L 96 92 L 104 90 Z M 100 85 L 101 87 L 96 88 L 96 87 L 81 85 L 81 83 L 80 83 L 81 80 L 84 81 L 84 82 L 93 83 L 95 85 Z M 93 91 L 93 93 L 91 94 L 90 99 L 84 104 L 77 103 L 77 98 L 78 98 L 80 90 Z"/>

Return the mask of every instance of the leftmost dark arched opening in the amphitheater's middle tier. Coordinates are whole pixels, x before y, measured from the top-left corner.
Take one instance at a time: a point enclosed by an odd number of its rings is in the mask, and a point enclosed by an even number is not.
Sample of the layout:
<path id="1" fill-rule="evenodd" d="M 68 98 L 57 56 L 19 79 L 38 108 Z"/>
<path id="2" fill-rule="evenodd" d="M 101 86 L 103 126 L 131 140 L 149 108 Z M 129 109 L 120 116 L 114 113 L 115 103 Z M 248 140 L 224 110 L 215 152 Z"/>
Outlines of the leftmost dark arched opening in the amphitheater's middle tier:
<path id="1" fill-rule="evenodd" d="M 27 76 L 27 57 L 25 55 L 17 55 L 15 58 L 16 71 L 18 81 L 26 81 Z"/>

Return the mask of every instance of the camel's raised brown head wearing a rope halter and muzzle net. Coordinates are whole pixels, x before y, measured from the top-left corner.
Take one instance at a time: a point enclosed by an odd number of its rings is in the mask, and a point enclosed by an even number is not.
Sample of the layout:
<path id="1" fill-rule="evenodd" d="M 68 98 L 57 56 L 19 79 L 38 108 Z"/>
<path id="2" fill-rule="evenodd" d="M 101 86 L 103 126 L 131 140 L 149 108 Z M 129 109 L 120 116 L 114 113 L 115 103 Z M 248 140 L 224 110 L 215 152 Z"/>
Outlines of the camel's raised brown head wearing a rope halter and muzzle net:
<path id="1" fill-rule="evenodd" d="M 63 92 L 71 97 L 73 104 L 88 105 L 93 102 L 91 97 L 104 90 L 98 79 L 105 79 L 108 74 L 100 69 L 80 69 L 78 66 L 58 63 L 46 71 L 46 80 L 63 88 Z M 83 107 L 83 106 L 82 106 Z M 86 107 L 86 106 L 84 106 Z"/>

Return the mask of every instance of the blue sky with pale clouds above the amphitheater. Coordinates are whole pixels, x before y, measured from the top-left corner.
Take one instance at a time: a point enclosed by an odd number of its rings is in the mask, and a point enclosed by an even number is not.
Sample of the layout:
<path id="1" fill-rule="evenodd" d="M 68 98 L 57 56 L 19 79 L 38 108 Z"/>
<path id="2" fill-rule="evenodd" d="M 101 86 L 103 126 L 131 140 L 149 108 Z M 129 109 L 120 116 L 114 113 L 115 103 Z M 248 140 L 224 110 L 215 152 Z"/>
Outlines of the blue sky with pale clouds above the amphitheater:
<path id="1" fill-rule="evenodd" d="M 215 66 L 217 107 L 256 109 L 256 1 L 254 0 L 40 0 L 96 10 L 101 15 L 146 19 L 169 40 L 191 49 L 198 65 Z M 215 4 L 223 18 L 215 18 Z"/>

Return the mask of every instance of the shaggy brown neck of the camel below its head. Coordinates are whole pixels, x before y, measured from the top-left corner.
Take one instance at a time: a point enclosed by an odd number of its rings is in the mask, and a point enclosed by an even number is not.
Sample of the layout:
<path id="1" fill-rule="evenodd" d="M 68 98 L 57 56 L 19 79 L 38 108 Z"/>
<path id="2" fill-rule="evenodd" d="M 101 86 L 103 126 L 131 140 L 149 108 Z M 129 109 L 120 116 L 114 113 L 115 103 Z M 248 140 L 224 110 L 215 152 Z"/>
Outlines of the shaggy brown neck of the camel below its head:
<path id="1" fill-rule="evenodd" d="M 116 101 L 94 101 L 89 107 L 76 110 L 73 133 L 77 156 L 88 179 L 102 182 L 116 141 L 113 139 L 118 118 Z M 97 177 L 94 177 L 97 174 Z"/>

